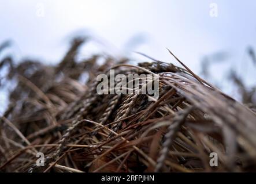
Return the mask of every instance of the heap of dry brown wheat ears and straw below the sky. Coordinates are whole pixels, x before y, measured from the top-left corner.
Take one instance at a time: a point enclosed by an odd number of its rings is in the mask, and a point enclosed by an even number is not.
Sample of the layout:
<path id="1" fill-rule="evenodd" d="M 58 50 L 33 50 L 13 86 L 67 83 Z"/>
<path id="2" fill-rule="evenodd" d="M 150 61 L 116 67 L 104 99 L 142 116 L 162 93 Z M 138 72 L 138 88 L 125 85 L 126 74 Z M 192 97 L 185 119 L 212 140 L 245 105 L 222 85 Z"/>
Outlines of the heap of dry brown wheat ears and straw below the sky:
<path id="1" fill-rule="evenodd" d="M 176 56 L 184 68 L 154 59 L 131 66 L 128 59 L 102 55 L 77 62 L 83 42 L 75 39 L 58 66 L 31 60 L 14 64 L 11 57 L 0 63 L 8 66 L 9 79 L 17 79 L 1 118 L 1 171 L 256 171 L 253 110 Z M 101 65 L 99 57 L 105 59 Z M 98 95 L 95 79 L 110 68 L 118 74 L 158 75 L 159 98 Z M 85 84 L 79 82 L 84 73 Z M 35 165 L 36 152 L 44 153 L 44 167 Z M 218 155 L 218 167 L 209 164 L 211 152 Z"/>

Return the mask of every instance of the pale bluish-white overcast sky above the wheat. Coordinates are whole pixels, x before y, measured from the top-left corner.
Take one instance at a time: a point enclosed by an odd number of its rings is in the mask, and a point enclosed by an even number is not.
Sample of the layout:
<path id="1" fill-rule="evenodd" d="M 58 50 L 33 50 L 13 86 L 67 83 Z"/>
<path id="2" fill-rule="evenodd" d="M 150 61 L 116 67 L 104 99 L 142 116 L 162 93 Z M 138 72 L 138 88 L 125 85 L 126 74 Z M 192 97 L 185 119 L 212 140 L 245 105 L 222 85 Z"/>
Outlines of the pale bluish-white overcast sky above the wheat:
<path id="1" fill-rule="evenodd" d="M 253 0 L 0 0 L 0 43 L 13 41 L 2 55 L 55 64 L 71 38 L 83 34 L 96 41 L 81 56 L 104 51 L 144 60 L 137 51 L 177 64 L 169 48 L 198 74 L 203 57 L 228 52 L 228 67 L 247 71 L 247 81 L 255 83 L 246 56 L 248 46 L 256 48 L 255 10 Z M 213 67 L 212 75 L 221 80 L 225 67 Z M 2 90 L 0 113 L 5 104 Z"/>

